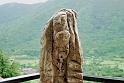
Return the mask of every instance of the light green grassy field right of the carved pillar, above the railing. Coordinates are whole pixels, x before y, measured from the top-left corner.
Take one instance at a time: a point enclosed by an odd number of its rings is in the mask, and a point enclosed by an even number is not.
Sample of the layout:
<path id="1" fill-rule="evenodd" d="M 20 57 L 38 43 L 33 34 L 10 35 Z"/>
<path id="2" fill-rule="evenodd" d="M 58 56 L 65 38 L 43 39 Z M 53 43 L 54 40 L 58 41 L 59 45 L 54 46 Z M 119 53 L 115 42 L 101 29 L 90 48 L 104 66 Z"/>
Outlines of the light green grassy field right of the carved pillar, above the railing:
<path id="1" fill-rule="evenodd" d="M 87 57 L 83 68 L 85 75 L 124 77 L 124 62 L 121 57 Z"/>

